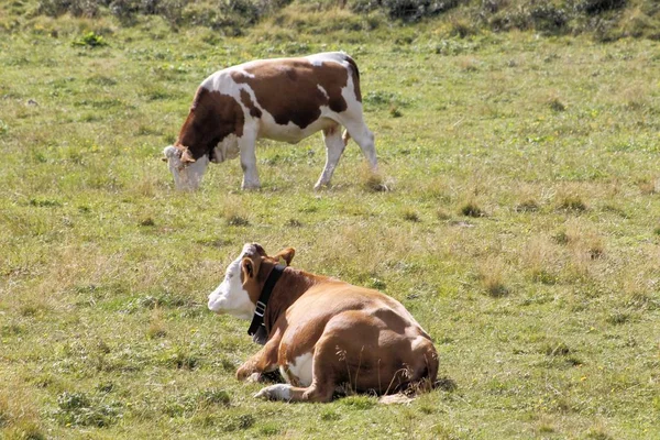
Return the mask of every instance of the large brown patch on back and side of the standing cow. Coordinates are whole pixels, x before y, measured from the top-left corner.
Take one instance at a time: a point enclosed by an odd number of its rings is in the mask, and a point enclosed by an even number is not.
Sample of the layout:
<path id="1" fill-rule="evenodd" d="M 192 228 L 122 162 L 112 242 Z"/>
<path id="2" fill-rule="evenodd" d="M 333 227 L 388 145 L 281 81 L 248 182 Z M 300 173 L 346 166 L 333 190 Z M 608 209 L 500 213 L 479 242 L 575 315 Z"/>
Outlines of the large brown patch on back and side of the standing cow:
<path id="1" fill-rule="evenodd" d="M 305 129 L 320 118 L 321 106 L 338 113 L 348 108 L 341 89 L 348 84 L 349 72 L 339 63 L 314 65 L 305 58 L 263 61 L 253 63 L 245 72 L 254 77 L 240 70 L 232 72 L 231 77 L 237 84 L 249 85 L 258 105 L 279 125 L 293 122 Z"/>

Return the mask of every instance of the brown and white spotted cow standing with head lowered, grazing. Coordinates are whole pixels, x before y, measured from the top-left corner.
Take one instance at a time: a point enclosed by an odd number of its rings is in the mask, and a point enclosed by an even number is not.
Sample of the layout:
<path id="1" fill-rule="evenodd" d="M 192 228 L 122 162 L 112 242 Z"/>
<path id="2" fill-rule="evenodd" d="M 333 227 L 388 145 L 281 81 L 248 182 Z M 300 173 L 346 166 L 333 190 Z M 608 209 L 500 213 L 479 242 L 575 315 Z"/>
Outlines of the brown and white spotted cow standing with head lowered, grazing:
<path id="1" fill-rule="evenodd" d="M 257 139 L 297 143 L 318 131 L 323 132 L 327 161 L 315 188 L 330 183 L 350 138 L 376 168 L 358 66 L 341 52 L 260 59 L 215 73 L 197 89 L 176 143 L 164 154 L 178 189 L 196 189 L 209 162 L 239 155 L 242 188 L 258 188 Z"/>

